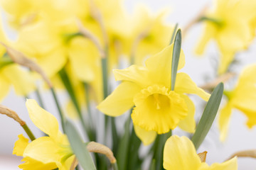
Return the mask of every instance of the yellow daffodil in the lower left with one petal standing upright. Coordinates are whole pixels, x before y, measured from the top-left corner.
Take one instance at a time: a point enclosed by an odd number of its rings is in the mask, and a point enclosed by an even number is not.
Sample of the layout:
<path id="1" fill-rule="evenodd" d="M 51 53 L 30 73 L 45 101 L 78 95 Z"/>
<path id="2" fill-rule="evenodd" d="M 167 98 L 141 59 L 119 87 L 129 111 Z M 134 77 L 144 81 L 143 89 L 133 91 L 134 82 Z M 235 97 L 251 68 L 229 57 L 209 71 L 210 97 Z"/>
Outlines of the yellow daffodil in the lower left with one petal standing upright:
<path id="1" fill-rule="evenodd" d="M 33 99 L 26 101 L 26 107 L 32 122 L 48 136 L 39 137 L 28 143 L 26 137 L 18 135 L 13 154 L 22 156 L 24 162 L 18 167 L 24 170 L 70 169 L 75 156 L 68 138 L 58 129 L 58 120 L 38 106 Z"/>

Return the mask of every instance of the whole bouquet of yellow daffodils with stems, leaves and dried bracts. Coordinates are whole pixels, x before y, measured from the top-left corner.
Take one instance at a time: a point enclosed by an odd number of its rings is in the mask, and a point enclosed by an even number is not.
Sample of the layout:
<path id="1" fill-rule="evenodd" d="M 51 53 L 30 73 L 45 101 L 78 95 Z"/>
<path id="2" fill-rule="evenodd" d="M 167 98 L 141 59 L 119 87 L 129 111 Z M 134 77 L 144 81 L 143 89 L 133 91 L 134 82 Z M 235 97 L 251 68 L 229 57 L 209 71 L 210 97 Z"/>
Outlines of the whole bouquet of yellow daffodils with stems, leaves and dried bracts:
<path id="1" fill-rule="evenodd" d="M 20 169 L 235 170 L 239 157 L 256 158 L 252 149 L 207 164 L 207 151 L 197 152 L 215 118 L 225 141 L 234 108 L 247 116 L 248 128 L 256 125 L 256 64 L 233 70 L 235 57 L 255 38 L 255 0 L 213 0 L 184 28 L 166 23 L 166 10 L 136 6 L 129 14 L 122 0 L 0 5 L 2 26 L 16 33 L 11 40 L 1 27 L 0 100 L 14 88 L 28 111 L 0 105 L 24 130 L 13 150 L 23 157 Z M 202 86 L 183 72 L 181 40 L 196 24 L 204 26 L 196 54 L 210 40 L 219 52 L 214 78 Z M 224 86 L 230 79 L 233 89 Z M 46 111 L 45 93 L 58 118 Z M 68 99 L 60 102 L 63 94 Z"/>

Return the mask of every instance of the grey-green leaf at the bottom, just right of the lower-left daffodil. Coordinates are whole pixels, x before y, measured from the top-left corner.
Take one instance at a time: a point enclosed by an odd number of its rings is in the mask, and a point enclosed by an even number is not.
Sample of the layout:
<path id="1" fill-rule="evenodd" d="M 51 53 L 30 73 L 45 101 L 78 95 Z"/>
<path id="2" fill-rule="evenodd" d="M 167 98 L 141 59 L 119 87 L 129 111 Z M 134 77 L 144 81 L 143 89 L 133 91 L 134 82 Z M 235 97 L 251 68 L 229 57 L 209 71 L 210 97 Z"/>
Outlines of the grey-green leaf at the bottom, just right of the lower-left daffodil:
<path id="1" fill-rule="evenodd" d="M 65 130 L 66 134 L 68 135 L 68 141 L 70 142 L 71 148 L 82 168 L 85 170 L 96 170 L 90 153 L 83 144 L 78 131 L 75 129 L 75 126 L 70 123 L 69 120 L 67 120 L 65 123 Z"/>

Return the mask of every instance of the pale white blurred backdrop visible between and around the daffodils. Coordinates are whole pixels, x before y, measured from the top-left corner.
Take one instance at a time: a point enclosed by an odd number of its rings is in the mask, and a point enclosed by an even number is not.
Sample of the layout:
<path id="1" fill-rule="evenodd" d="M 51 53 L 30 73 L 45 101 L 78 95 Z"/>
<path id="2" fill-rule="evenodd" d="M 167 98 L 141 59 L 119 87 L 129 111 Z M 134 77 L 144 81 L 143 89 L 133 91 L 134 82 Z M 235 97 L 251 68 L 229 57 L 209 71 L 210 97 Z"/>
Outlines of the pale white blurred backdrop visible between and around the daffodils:
<path id="1" fill-rule="evenodd" d="M 157 12 L 162 8 L 168 8 L 170 13 L 166 18 L 166 22 L 171 24 L 178 23 L 180 28 L 185 28 L 189 21 L 193 20 L 204 6 L 209 3 L 211 3 L 210 0 L 129 0 L 124 1 L 124 6 L 130 13 L 132 13 L 134 6 L 137 4 L 144 4 L 154 12 Z M 5 23 L 6 17 L 4 13 L 2 14 L 2 17 Z M 193 50 L 196 42 L 198 42 L 198 39 L 200 38 L 202 29 L 203 27 L 200 23 L 196 24 L 188 30 L 186 38 L 183 38 L 182 42 L 182 48 L 186 56 L 186 66 L 183 68 L 183 72 L 189 74 L 191 79 L 193 79 L 198 86 L 205 84 L 206 81 L 214 79 L 216 58 L 218 58 L 218 51 L 216 50 L 214 43 L 208 45 L 204 57 L 197 57 L 194 55 Z M 6 24 L 4 24 L 4 30 L 6 30 L 10 38 L 15 38 L 16 35 L 14 31 L 10 30 Z M 239 64 L 235 67 L 235 72 L 238 73 L 245 65 L 256 62 L 256 41 L 252 43 L 246 52 L 238 54 L 236 59 Z M 233 81 L 233 83 L 230 82 L 230 86 L 233 86 L 232 84 L 234 84 L 234 82 L 235 81 Z M 31 94 L 29 97 L 36 98 L 35 94 Z M 62 103 L 67 97 L 66 94 L 60 94 L 60 96 L 58 96 Z M 199 98 L 193 96 L 193 101 L 197 101 L 198 99 Z M 43 93 L 43 101 L 45 102 L 47 111 L 53 113 L 53 115 L 58 118 L 58 111 L 55 108 L 53 98 L 49 92 Z M 26 99 L 16 96 L 14 94 L 14 89 L 12 89 L 9 96 L 4 99 L 2 104 L 21 115 L 21 118 L 26 121 L 31 129 L 33 129 L 35 135 L 40 136 L 41 132 L 35 125 L 33 125 L 28 117 L 25 102 Z M 224 102 L 221 106 L 223 106 L 223 104 Z M 200 107 L 201 103 L 196 106 L 196 108 L 199 108 L 196 110 L 196 114 L 202 112 Z M 245 115 L 239 111 L 233 111 L 227 140 L 225 142 L 220 142 L 218 128 L 214 122 L 213 127 L 208 133 L 203 145 L 198 149 L 198 152 L 207 151 L 206 162 L 212 164 L 213 162 L 224 162 L 225 159 L 228 159 L 234 152 L 245 149 L 255 149 L 256 128 L 249 130 L 247 126 L 245 126 L 245 123 Z M 25 134 L 18 123 L 4 115 L 0 115 L 0 169 L 18 169 L 18 164 L 21 164 L 21 158 L 12 155 L 14 142 L 18 140 L 18 135 L 21 133 Z M 174 130 L 174 134 L 182 135 L 183 133 L 181 130 Z M 239 169 L 256 169 L 256 159 L 239 158 L 238 166 Z"/>

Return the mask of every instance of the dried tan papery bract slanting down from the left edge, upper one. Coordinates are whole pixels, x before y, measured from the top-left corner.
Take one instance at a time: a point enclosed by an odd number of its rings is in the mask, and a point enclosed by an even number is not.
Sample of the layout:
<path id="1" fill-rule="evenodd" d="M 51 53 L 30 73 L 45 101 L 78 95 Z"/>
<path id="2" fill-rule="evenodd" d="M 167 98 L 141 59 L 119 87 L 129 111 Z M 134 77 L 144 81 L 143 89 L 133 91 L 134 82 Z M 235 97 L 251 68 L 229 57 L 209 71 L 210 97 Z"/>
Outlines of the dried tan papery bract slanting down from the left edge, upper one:
<path id="1" fill-rule="evenodd" d="M 43 72 L 43 69 L 41 69 L 41 67 L 39 67 L 38 64 L 36 64 L 36 62 L 33 62 L 33 60 L 29 60 L 25 55 L 23 55 L 23 53 L 15 50 L 9 45 L 6 45 L 4 42 L 0 42 L 0 44 L 6 47 L 6 51 L 9 57 L 11 57 L 11 60 L 16 62 L 17 64 L 20 64 L 21 66 L 28 67 L 28 69 L 31 69 L 34 72 L 38 72 L 38 74 L 40 74 L 41 77 L 43 77 L 43 79 L 46 81 L 48 86 L 50 88 L 53 87 L 53 85 L 50 82 L 50 79 L 48 79 L 48 77 L 46 76 L 46 73 Z"/>

